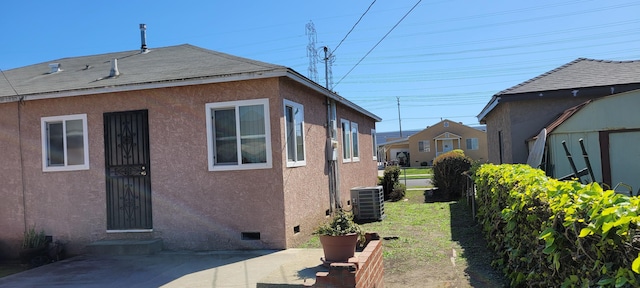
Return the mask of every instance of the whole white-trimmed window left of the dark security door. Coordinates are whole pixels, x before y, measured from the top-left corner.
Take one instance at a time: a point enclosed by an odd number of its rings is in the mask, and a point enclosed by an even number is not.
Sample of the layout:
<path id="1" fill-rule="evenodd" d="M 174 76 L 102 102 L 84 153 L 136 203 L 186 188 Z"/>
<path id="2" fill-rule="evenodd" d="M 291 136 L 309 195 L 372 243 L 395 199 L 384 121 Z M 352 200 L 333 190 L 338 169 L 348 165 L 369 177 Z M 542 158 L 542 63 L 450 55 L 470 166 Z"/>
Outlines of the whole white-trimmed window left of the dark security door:
<path id="1" fill-rule="evenodd" d="M 87 114 L 42 117 L 42 171 L 89 169 Z"/>

